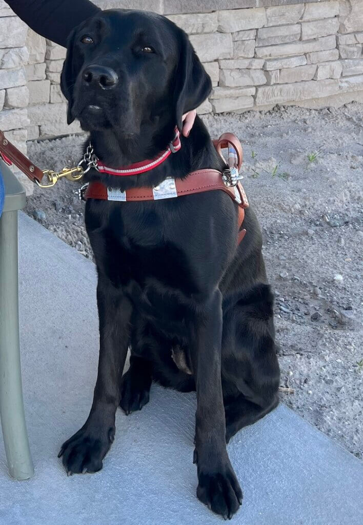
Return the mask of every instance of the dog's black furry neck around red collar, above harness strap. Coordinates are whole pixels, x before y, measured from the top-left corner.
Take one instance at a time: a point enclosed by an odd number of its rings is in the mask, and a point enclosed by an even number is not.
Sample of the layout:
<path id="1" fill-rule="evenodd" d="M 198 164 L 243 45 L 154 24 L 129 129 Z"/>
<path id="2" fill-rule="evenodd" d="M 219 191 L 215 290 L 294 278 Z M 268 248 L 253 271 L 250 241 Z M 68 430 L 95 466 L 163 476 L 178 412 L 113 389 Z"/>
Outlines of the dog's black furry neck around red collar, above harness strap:
<path id="1" fill-rule="evenodd" d="M 155 129 L 150 124 L 142 126 L 138 136 L 125 137 L 113 130 L 91 132 L 90 141 L 99 159 L 110 167 L 124 167 L 134 162 L 152 159 L 167 149 L 174 138 L 173 123 Z M 204 167 L 221 169 L 221 160 L 216 154 L 209 133 L 199 117 L 196 117 L 188 138 L 181 135 L 181 149 L 153 170 L 139 175 L 117 176 L 91 170 L 88 181 L 100 181 L 125 191 L 131 187 L 155 186 L 167 176 L 183 178 L 191 171 Z"/>

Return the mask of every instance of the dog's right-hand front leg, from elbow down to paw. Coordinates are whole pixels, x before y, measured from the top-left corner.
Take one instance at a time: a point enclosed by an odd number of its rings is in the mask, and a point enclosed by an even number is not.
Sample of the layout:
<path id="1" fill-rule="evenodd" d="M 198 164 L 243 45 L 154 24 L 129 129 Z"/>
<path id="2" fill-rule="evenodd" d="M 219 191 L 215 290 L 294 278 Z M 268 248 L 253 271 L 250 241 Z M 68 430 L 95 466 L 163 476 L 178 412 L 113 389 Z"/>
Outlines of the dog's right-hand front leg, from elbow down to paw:
<path id="1" fill-rule="evenodd" d="M 192 350 L 196 383 L 194 463 L 198 498 L 225 519 L 242 503 L 242 491 L 226 450 L 221 381 L 222 295 L 219 290 L 196 311 Z"/>

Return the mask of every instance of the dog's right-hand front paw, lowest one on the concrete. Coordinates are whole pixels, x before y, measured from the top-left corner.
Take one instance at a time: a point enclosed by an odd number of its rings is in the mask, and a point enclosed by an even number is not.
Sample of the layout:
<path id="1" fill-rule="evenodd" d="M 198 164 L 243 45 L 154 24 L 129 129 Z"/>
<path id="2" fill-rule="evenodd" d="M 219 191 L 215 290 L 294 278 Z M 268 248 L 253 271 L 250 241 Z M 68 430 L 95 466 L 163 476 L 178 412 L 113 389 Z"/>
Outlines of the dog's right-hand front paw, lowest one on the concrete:
<path id="1" fill-rule="evenodd" d="M 231 519 L 242 505 L 242 490 L 230 464 L 203 472 L 199 469 L 196 495 L 209 509 L 226 520 Z"/>

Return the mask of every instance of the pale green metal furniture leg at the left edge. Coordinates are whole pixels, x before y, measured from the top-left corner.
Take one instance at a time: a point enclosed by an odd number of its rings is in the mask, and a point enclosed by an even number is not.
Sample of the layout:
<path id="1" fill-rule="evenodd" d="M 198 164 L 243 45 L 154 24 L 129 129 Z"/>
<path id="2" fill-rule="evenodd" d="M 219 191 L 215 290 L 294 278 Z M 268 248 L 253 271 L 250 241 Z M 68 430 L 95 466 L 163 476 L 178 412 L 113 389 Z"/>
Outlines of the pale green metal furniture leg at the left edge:
<path id="1" fill-rule="evenodd" d="M 9 472 L 34 474 L 25 423 L 20 372 L 17 210 L 0 217 L 0 419 Z"/>

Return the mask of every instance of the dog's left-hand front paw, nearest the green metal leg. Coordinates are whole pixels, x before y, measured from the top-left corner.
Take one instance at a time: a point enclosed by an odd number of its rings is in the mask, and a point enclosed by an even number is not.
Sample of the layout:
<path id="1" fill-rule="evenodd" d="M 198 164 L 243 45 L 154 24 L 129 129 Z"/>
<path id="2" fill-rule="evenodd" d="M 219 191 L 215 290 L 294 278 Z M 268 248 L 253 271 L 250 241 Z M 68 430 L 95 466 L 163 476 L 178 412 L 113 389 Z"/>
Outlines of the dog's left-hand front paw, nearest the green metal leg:
<path id="1" fill-rule="evenodd" d="M 102 459 L 106 456 L 115 438 L 115 427 L 109 428 L 104 439 L 95 437 L 96 435 L 99 436 L 99 433 L 81 428 L 63 443 L 58 457 L 62 457 L 67 475 L 101 470 Z"/>

